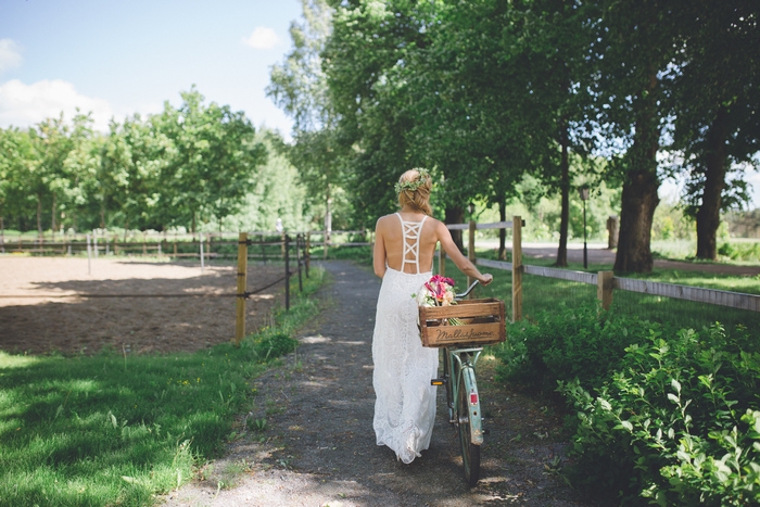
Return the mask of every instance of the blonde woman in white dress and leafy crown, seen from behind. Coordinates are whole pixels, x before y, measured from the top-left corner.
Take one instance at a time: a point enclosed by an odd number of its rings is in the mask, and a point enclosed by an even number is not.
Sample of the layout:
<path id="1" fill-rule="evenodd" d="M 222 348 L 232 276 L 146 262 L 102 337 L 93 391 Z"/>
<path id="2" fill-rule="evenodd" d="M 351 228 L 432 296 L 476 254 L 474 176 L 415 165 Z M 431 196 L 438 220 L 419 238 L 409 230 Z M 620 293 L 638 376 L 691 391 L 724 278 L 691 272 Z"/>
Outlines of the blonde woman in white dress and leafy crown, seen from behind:
<path id="1" fill-rule="evenodd" d="M 405 464 L 430 446 L 435 421 L 438 348 L 426 348 L 417 328 L 417 303 L 411 294 L 432 276 L 435 245 L 467 276 L 482 284 L 481 272 L 452 240 L 446 226 L 430 208 L 432 179 L 425 169 L 404 173 L 396 183 L 401 211 L 378 219 L 375 274 L 382 278 L 372 335 L 373 428 L 378 445 L 388 445 Z"/>

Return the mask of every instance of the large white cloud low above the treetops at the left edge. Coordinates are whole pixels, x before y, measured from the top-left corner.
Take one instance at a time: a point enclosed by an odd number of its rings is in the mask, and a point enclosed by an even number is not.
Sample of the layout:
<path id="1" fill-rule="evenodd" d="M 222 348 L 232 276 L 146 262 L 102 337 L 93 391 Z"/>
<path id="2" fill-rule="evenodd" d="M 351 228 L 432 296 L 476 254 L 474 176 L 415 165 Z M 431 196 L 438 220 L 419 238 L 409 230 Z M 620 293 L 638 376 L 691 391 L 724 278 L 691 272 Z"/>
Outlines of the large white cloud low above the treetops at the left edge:
<path id="1" fill-rule="evenodd" d="M 25 85 L 18 79 L 0 85 L 0 127 L 30 127 L 45 118 L 72 119 L 79 107 L 92 113 L 94 128 L 106 131 L 114 115 L 107 101 L 79 94 L 71 83 L 54 79 Z"/>

